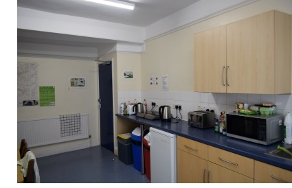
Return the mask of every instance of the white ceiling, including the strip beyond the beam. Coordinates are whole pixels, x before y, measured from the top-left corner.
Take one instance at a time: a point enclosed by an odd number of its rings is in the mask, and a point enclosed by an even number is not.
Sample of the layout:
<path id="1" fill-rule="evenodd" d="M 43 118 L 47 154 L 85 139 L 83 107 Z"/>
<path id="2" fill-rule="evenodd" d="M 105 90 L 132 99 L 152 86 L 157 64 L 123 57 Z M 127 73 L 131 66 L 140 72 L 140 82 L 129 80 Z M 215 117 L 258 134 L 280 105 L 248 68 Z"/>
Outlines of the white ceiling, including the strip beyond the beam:
<path id="1" fill-rule="evenodd" d="M 135 9 L 125 10 L 85 0 L 19 0 L 17 1 L 17 6 L 54 14 L 65 14 L 68 16 L 78 16 L 87 19 L 146 27 L 199 0 L 122 1 L 135 3 Z M 104 40 L 100 38 L 70 36 L 20 29 L 17 30 L 17 41 L 34 44 L 96 47 L 97 49 L 109 47 L 111 44 L 117 43 L 117 40 Z"/>

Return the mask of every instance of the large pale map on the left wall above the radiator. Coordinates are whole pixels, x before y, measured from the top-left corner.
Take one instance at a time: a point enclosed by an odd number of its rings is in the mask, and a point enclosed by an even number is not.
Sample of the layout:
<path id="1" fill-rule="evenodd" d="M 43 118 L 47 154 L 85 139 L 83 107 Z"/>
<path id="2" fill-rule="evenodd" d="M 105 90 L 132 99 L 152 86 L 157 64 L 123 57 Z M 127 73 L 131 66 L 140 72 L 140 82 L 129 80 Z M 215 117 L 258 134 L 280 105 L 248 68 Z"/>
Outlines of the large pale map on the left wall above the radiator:
<path id="1" fill-rule="evenodd" d="M 38 105 L 38 64 L 17 62 L 17 106 Z"/>

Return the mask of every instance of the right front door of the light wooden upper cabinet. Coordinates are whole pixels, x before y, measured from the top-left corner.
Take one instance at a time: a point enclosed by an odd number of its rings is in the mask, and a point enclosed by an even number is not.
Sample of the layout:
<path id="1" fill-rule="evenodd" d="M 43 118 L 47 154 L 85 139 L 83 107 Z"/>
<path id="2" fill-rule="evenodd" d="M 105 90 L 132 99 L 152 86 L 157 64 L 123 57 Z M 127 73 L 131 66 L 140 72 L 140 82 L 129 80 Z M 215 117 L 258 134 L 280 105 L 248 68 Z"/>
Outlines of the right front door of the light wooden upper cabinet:
<path id="1" fill-rule="evenodd" d="M 274 93 L 273 21 L 271 11 L 227 25 L 227 93 Z"/>

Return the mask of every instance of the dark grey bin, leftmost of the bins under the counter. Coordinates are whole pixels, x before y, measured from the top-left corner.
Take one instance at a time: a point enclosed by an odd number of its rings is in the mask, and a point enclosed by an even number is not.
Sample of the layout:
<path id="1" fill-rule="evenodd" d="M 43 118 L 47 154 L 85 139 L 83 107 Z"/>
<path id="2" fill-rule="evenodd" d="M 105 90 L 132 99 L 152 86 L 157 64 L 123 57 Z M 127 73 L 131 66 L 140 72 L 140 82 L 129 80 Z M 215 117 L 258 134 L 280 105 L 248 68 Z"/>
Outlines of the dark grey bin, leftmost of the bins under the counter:
<path id="1" fill-rule="evenodd" d="M 117 135 L 117 153 L 120 161 L 126 165 L 133 164 L 133 152 L 130 133 Z"/>

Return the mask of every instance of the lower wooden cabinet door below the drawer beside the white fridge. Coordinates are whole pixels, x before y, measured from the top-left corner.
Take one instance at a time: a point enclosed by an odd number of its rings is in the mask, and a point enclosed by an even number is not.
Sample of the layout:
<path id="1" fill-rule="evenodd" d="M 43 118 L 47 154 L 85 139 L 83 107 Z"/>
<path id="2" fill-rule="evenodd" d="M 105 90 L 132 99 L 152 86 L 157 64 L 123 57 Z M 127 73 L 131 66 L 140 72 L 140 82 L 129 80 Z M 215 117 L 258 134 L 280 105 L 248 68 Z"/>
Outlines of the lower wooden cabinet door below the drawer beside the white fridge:
<path id="1" fill-rule="evenodd" d="M 207 161 L 177 150 L 177 183 L 207 183 Z"/>

